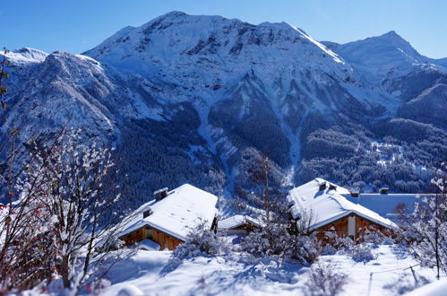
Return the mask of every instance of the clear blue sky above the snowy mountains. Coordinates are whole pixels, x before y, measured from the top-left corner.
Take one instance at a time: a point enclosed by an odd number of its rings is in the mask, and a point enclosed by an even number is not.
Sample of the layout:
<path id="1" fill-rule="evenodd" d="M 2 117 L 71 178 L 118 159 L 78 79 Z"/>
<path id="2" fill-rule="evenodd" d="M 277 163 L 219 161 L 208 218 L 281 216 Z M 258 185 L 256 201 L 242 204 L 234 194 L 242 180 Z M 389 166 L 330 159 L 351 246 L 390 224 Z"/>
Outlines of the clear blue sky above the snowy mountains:
<path id="1" fill-rule="evenodd" d="M 173 10 L 288 22 L 314 39 L 339 43 L 395 30 L 419 53 L 447 57 L 444 0 L 2 0 L 0 46 L 81 53 L 116 30 Z"/>

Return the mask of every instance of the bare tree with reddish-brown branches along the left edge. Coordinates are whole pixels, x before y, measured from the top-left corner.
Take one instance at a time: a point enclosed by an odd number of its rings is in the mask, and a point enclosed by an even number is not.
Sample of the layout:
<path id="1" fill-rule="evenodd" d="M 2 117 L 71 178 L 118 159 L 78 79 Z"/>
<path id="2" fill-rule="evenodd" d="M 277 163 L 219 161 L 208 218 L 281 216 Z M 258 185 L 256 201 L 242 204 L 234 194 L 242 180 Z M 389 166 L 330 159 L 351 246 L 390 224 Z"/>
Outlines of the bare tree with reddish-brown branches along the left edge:
<path id="1" fill-rule="evenodd" d="M 3 79 L 9 78 L 5 70 L 9 65 L 7 54 L 4 50 L 0 64 L 0 99 L 7 91 L 3 83 Z M 23 146 L 16 145 L 20 129 L 4 119 L 4 100 L 1 100 L 1 107 L 6 133 L 0 135 L 0 194 L 5 196 L 4 203 L 0 203 L 0 294 L 32 287 L 49 278 L 54 267 L 48 260 L 53 253 L 52 241 L 44 235 L 48 219 L 37 196 L 37 188 L 43 187 L 46 180 L 30 179 L 30 191 L 21 192 L 21 179 L 31 170 L 30 157 Z M 44 166 L 42 163 L 36 169 Z"/>

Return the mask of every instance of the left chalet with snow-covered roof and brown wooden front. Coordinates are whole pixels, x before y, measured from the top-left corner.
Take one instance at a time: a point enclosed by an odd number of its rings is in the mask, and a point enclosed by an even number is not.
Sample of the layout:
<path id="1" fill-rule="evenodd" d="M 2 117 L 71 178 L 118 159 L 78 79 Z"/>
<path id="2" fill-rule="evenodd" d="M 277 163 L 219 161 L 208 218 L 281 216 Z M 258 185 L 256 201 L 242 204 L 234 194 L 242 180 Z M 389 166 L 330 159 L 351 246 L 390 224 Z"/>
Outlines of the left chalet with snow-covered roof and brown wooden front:
<path id="1" fill-rule="evenodd" d="M 200 221 L 217 231 L 217 196 L 189 184 L 171 191 L 157 190 L 154 196 L 132 214 L 131 222 L 119 234 L 125 246 L 173 250 L 185 242 L 188 232 Z"/>

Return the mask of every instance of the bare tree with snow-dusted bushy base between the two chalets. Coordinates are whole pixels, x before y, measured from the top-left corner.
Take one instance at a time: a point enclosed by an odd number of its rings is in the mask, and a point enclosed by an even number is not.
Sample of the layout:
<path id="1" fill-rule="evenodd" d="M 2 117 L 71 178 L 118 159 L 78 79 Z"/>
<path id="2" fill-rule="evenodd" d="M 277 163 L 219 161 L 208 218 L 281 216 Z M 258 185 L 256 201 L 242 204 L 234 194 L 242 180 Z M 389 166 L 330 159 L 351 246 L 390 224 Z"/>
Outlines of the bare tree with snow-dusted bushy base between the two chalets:
<path id="1" fill-rule="evenodd" d="M 246 178 L 250 190 L 241 192 L 251 196 L 260 208 L 263 225 L 260 231 L 249 233 L 241 248 L 259 256 L 293 258 L 300 263 L 312 263 L 318 257 L 319 243 L 310 230 L 312 213 L 304 212 L 301 219 L 291 219 L 287 190 L 282 187 L 283 176 L 266 154 L 247 158 Z"/>

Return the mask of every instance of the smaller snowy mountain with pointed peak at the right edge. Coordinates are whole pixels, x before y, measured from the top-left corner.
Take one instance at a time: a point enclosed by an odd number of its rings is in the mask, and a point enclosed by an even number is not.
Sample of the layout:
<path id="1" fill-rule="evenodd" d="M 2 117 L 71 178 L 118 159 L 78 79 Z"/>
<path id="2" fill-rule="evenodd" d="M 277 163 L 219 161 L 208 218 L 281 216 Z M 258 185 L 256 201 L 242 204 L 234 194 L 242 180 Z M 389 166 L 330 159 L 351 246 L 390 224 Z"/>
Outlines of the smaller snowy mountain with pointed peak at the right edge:
<path id="1" fill-rule="evenodd" d="M 323 43 L 353 65 L 374 90 L 398 98 L 398 116 L 445 126 L 445 59 L 420 55 L 395 31 L 343 45 Z"/>

